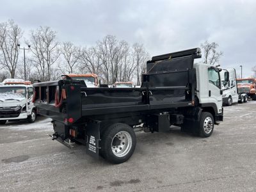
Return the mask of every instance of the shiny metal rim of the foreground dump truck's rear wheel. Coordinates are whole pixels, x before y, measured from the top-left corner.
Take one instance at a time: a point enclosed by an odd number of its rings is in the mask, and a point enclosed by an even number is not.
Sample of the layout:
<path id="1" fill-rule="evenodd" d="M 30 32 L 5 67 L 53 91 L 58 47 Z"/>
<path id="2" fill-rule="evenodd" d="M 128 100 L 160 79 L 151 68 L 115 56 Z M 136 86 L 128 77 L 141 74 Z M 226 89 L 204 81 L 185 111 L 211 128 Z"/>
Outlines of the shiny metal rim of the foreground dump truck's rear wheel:
<path id="1" fill-rule="evenodd" d="M 116 133 L 111 142 L 111 149 L 116 157 L 126 156 L 132 147 L 132 137 L 129 132 L 120 131 Z"/>

